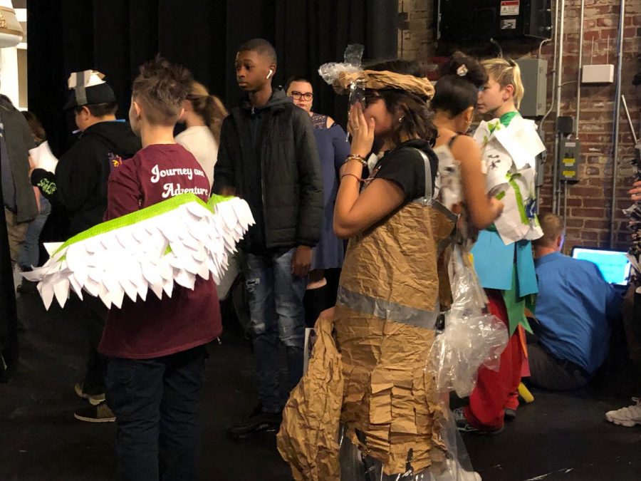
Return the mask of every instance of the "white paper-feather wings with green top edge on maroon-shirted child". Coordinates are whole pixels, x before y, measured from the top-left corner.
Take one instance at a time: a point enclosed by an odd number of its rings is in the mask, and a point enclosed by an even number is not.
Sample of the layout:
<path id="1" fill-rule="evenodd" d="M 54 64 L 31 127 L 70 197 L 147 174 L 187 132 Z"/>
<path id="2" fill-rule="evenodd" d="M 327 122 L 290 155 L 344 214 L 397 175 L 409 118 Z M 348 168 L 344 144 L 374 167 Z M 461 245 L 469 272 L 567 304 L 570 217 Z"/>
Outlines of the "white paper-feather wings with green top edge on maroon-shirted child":
<path id="1" fill-rule="evenodd" d="M 214 195 L 204 203 L 182 194 L 72 237 L 43 267 L 23 274 L 38 282 L 46 309 L 53 297 L 65 305 L 69 291 L 83 290 L 105 306 L 120 308 L 124 296 L 143 301 L 152 291 L 172 295 L 174 282 L 194 289 L 196 276 L 218 284 L 227 256 L 254 224 L 249 205 L 237 197 Z M 55 248 L 55 247 L 54 247 Z"/>

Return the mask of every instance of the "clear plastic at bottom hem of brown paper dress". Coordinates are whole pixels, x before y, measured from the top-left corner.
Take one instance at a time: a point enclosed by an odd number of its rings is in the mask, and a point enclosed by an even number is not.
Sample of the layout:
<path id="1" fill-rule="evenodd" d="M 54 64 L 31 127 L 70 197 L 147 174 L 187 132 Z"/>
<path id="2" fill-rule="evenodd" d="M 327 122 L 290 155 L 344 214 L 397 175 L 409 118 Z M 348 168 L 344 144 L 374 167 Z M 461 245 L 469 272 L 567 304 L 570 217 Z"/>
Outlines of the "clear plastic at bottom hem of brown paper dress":
<path id="1" fill-rule="evenodd" d="M 343 428 L 339 433 L 340 481 L 481 481 L 479 473 L 471 468 L 471 462 L 461 435 L 456 428 L 452 411 L 444 408 L 447 418 L 442 422 L 444 443 L 447 445 L 445 465 L 414 472 L 408 460 L 406 472 L 386 475 L 382 463 L 372 457 L 364 457 L 353 445 Z"/>

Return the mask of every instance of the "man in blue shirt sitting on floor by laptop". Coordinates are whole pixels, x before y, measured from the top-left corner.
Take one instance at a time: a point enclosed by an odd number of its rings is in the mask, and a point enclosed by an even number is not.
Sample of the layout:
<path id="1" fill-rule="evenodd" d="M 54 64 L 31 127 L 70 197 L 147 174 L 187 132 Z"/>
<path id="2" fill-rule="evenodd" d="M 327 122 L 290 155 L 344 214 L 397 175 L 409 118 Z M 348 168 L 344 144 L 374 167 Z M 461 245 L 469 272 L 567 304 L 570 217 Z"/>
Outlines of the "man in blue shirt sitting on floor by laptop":
<path id="1" fill-rule="evenodd" d="M 534 241 L 538 279 L 538 339 L 528 341 L 533 386 L 578 389 L 608 356 L 609 319 L 619 315 L 621 295 L 592 262 L 561 254 L 565 227 L 560 217 L 539 218 L 543 237 Z"/>

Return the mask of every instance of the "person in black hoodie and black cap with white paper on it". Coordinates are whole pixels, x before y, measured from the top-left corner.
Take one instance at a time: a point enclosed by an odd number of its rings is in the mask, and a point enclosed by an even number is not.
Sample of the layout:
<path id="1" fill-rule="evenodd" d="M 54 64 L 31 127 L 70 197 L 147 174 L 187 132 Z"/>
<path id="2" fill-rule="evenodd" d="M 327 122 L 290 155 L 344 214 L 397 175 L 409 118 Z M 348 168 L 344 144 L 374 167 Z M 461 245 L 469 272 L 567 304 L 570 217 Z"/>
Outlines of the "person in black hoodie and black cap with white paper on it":
<path id="1" fill-rule="evenodd" d="M 133 157 L 142 145 L 129 123 L 116 120 L 118 104 L 102 74 L 72 73 L 69 87 L 72 90 L 65 108 L 73 108 L 80 138 L 62 155 L 55 173 L 40 168 L 33 170 L 31 184 L 53 205 L 66 209 L 71 237 L 103 222 L 110 173 L 123 160 Z M 107 363 L 97 351 L 107 309 L 99 298 L 85 295 L 80 315 L 88 329 L 89 355 L 85 379 L 75 385 L 75 393 L 90 405 L 74 415 L 76 419 L 93 423 L 113 421 L 115 417 L 105 404 Z"/>

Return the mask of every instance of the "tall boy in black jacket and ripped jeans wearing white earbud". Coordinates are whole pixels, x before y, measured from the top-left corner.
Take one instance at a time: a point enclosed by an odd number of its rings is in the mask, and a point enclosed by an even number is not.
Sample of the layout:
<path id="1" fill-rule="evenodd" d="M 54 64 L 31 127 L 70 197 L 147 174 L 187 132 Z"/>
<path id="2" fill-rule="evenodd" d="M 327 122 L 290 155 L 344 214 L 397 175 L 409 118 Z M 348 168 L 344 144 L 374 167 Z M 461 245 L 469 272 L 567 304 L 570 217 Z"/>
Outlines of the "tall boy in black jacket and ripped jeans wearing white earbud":
<path id="1" fill-rule="evenodd" d="M 278 429 L 280 342 L 288 391 L 302 376 L 303 296 L 323 224 L 323 180 L 311 120 L 282 88 L 271 87 L 275 72 L 276 51 L 268 41 L 255 38 L 239 48 L 236 80 L 248 95 L 223 122 L 214 174 L 214 192 L 244 198 L 256 220 L 241 249 L 260 403 L 228 429 L 231 438 Z"/>

